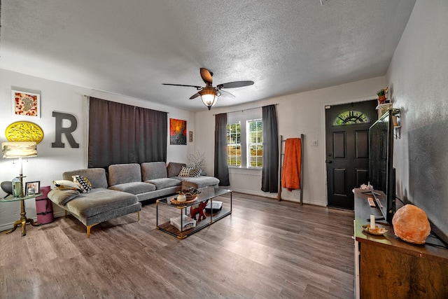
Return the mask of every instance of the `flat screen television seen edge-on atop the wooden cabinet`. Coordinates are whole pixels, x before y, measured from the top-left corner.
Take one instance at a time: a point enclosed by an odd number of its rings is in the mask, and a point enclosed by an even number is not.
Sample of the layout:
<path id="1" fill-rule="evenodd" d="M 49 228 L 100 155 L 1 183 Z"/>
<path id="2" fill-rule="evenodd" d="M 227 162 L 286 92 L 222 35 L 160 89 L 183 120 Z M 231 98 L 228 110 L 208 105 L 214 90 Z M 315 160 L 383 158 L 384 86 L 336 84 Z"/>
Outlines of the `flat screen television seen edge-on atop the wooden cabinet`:
<path id="1" fill-rule="evenodd" d="M 395 214 L 395 169 L 393 169 L 393 109 L 388 110 L 369 129 L 369 180 L 377 207 L 388 223 Z"/>

